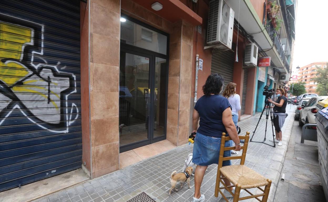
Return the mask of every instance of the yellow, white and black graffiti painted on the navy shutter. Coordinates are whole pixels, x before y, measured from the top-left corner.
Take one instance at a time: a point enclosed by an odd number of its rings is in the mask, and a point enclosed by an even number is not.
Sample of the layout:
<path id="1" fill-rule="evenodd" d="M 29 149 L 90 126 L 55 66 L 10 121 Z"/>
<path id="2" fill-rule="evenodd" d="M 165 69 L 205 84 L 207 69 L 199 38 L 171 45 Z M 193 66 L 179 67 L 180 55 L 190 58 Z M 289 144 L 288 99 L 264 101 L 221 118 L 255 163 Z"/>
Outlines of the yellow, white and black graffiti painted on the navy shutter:
<path id="1" fill-rule="evenodd" d="M 59 61 L 52 65 L 43 57 L 43 25 L 0 16 L 0 126 L 18 109 L 42 129 L 68 133 L 79 113 L 68 102 L 76 93 L 75 75 L 59 71 Z"/>

